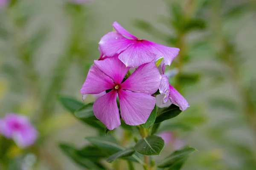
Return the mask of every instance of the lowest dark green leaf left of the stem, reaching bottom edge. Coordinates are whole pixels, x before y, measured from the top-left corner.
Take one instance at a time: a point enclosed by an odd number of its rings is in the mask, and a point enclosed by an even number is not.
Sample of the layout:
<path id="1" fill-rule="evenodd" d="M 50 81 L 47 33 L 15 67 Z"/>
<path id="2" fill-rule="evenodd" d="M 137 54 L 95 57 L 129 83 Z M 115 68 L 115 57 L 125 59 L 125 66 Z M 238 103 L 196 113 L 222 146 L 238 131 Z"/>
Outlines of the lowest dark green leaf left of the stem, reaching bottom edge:
<path id="1" fill-rule="evenodd" d="M 68 156 L 70 159 L 75 161 L 77 164 L 79 164 L 81 167 L 85 167 L 88 169 L 95 169 L 95 170 L 101 170 L 102 168 L 99 167 L 95 162 L 88 158 L 84 158 L 81 155 L 79 155 L 76 148 L 73 146 L 70 146 L 69 144 L 59 144 L 59 147 L 61 150 Z"/>

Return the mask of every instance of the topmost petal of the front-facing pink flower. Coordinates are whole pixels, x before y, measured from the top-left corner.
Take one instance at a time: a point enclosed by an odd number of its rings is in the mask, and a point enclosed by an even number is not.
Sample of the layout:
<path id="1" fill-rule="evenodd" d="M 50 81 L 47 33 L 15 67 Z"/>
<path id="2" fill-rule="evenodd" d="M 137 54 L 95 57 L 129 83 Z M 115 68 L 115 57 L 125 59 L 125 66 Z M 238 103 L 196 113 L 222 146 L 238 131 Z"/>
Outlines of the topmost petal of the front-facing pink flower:
<path id="1" fill-rule="evenodd" d="M 95 60 L 94 64 L 117 84 L 122 82 L 129 70 L 117 57 L 110 57 L 102 61 Z"/>

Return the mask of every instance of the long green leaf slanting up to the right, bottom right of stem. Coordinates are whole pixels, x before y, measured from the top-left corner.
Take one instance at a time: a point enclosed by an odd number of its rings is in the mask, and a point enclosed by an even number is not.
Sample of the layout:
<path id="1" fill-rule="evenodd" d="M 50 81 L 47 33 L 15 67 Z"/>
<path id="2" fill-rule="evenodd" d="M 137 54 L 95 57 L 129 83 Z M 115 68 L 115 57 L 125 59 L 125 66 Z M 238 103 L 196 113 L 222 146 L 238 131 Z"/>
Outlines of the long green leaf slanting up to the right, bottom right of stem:
<path id="1" fill-rule="evenodd" d="M 186 157 L 195 151 L 195 148 L 192 147 L 185 147 L 181 150 L 176 150 L 169 156 L 167 156 L 163 161 L 161 161 L 157 167 L 165 168 L 165 167 L 171 167 L 174 166 L 177 161 L 180 161 L 182 159 L 186 159 Z"/>

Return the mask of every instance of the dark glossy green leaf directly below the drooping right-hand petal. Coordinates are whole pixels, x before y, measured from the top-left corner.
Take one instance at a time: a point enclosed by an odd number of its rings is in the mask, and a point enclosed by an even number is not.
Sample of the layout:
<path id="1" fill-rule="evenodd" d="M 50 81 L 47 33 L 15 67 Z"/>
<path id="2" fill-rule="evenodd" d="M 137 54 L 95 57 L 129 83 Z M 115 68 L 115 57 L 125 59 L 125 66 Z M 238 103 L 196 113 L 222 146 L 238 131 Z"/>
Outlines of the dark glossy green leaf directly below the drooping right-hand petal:
<path id="1" fill-rule="evenodd" d="M 170 105 L 169 108 L 160 109 L 157 112 L 157 118 L 155 123 L 163 122 L 167 119 L 172 119 L 181 113 L 180 108 L 176 105 Z"/>

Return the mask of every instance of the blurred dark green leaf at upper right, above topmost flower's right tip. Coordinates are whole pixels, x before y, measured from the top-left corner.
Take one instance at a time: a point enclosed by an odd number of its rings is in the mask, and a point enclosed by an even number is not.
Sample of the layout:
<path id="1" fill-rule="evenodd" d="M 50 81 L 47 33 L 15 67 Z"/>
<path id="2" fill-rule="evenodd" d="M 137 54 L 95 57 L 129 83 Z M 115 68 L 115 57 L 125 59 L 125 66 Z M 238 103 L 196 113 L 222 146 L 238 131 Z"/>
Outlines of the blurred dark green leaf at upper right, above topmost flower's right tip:
<path id="1" fill-rule="evenodd" d="M 202 30 L 206 28 L 206 23 L 202 19 L 190 18 L 186 20 L 183 26 L 184 32 L 189 32 L 193 30 Z"/>

